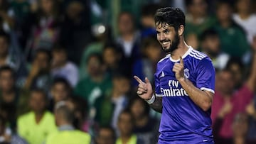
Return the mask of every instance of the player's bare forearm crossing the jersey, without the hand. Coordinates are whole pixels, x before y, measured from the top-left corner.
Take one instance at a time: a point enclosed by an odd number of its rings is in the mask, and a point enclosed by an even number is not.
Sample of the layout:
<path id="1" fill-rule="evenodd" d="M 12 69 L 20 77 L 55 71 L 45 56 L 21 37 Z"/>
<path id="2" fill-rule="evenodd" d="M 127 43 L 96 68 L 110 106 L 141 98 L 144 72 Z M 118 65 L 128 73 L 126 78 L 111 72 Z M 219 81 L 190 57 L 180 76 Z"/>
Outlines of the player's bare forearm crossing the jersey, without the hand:
<path id="1" fill-rule="evenodd" d="M 182 78 L 178 81 L 180 82 L 183 89 L 185 89 L 188 96 L 197 106 L 201 107 L 203 111 L 207 111 L 208 109 L 210 109 L 210 106 L 212 104 L 212 96 L 210 96 L 210 94 L 207 94 L 201 89 L 195 87 L 189 79 Z"/>

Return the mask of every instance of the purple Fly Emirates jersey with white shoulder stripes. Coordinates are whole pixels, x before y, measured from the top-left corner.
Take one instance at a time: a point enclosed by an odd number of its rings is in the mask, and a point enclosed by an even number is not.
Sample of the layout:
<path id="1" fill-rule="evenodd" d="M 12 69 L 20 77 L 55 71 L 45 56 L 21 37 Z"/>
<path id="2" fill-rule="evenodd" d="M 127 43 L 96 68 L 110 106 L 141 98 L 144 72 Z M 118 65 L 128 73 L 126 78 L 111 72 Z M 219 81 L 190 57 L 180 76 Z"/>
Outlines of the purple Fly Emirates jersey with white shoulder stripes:
<path id="1" fill-rule="evenodd" d="M 214 93 L 215 70 L 210 58 L 189 47 L 185 55 L 184 76 L 198 89 Z M 213 143 L 210 109 L 203 111 L 181 87 L 172 71 L 174 63 L 166 55 L 157 64 L 156 96 L 163 96 L 159 143 Z"/>

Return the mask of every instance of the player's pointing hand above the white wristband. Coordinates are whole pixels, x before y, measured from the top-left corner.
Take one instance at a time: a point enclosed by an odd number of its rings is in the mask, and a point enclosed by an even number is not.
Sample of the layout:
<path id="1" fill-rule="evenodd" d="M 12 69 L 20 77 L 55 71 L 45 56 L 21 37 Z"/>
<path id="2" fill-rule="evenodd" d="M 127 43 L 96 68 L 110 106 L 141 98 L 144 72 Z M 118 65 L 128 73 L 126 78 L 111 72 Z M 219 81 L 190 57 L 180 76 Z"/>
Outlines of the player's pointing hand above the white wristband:
<path id="1" fill-rule="evenodd" d="M 149 82 L 149 79 L 146 77 L 145 82 L 142 81 L 142 79 L 139 79 L 139 77 L 134 76 L 134 79 L 139 82 L 137 94 L 144 100 L 151 99 L 151 96 L 153 94 L 152 86 Z"/>

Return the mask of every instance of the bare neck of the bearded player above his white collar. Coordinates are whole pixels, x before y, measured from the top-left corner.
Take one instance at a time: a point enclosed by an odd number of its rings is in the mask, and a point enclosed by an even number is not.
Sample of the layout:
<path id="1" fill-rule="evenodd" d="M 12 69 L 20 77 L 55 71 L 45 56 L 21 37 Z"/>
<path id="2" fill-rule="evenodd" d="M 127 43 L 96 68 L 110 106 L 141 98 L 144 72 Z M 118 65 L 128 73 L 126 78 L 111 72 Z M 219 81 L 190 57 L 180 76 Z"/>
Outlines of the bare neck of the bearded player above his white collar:
<path id="1" fill-rule="evenodd" d="M 183 37 L 180 39 L 180 43 L 178 44 L 178 48 L 171 52 L 171 58 L 174 60 L 179 60 L 182 55 L 186 53 L 188 50 L 188 45 L 183 40 Z"/>

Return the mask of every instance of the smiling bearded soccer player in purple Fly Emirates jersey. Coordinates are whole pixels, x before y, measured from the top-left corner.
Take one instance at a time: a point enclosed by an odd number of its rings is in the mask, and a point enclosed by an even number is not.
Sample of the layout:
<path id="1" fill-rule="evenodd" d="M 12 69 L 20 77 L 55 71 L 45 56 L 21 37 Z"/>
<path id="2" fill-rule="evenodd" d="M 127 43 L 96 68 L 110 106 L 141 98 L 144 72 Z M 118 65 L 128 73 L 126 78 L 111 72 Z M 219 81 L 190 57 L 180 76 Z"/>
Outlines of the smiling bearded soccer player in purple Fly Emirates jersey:
<path id="1" fill-rule="evenodd" d="M 210 106 L 215 70 L 210 58 L 186 45 L 185 16 L 181 9 L 161 8 L 154 17 L 157 39 L 166 57 L 155 73 L 155 94 L 149 79 L 139 82 L 137 94 L 162 113 L 159 144 L 214 143 Z"/>

